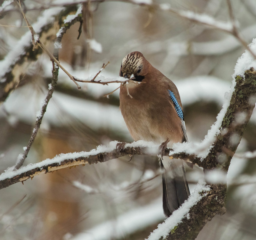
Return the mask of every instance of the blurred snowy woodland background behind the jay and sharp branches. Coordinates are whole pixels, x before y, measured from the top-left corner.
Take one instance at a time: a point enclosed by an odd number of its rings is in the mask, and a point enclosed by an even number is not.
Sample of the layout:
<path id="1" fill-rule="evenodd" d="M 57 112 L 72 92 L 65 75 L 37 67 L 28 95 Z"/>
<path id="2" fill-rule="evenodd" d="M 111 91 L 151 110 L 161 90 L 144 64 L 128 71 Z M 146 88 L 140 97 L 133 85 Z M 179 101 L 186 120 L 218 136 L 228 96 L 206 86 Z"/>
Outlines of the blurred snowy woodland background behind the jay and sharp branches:
<path id="1" fill-rule="evenodd" d="M 65 1 L 71 2 L 71 1 Z M 137 3 L 151 1 L 134 1 Z M 64 1 L 22 1 L 26 16 L 37 26 L 49 21 L 43 9 Z M 77 78 L 92 79 L 103 63 L 110 64 L 96 80 L 118 79 L 121 61 L 140 51 L 177 85 L 183 104 L 189 141 L 200 143 L 222 108 L 232 86 L 237 59 L 245 49 L 231 34 L 200 25 L 166 11 L 206 14 L 203 20 L 227 23 L 225 0 L 153 1 L 155 10 L 128 2 L 91 2 L 79 40 L 79 23 L 64 35 L 61 64 Z M 169 5 L 168 5 L 169 4 Z M 256 37 L 256 2 L 232 1 L 243 38 Z M 3 14 L 8 11 L 7 14 Z M 186 12 L 187 13 L 187 12 Z M 0 7 L 1 75 L 31 40 L 26 23 L 12 1 Z M 44 16 L 37 22 L 38 16 Z M 193 15 L 194 16 L 194 15 Z M 208 16 L 208 17 L 207 17 Z M 39 25 L 40 25 L 39 24 Z M 34 26 L 34 27 L 35 27 Z M 36 29 L 36 28 L 35 28 Z M 52 42 L 52 45 L 54 42 Z M 12 53 L 12 54 L 10 54 Z M 11 55 L 11 56 L 10 56 Z M 0 106 L 0 168 L 15 164 L 27 145 L 37 112 L 46 96 L 52 63 L 42 55 L 29 64 L 20 86 Z M 236 71 L 239 71 L 236 69 Z M 241 71 L 241 69 L 240 69 Z M 109 141 L 132 141 L 118 108 L 119 84 L 80 83 L 82 90 L 59 71 L 56 91 L 49 102 L 36 141 L 25 164 L 59 153 L 90 151 Z M 197 239 L 256 238 L 256 114 L 231 161 L 228 172 L 227 213 L 208 222 Z M 58 170 L 16 183 L 0 193 L 1 239 L 145 239 L 165 216 L 162 179 L 155 157 L 124 157 L 106 163 Z M 202 170 L 188 172 L 191 192 Z M 208 176 L 222 182 L 223 174 Z M 208 180 L 209 180 L 208 179 Z"/>

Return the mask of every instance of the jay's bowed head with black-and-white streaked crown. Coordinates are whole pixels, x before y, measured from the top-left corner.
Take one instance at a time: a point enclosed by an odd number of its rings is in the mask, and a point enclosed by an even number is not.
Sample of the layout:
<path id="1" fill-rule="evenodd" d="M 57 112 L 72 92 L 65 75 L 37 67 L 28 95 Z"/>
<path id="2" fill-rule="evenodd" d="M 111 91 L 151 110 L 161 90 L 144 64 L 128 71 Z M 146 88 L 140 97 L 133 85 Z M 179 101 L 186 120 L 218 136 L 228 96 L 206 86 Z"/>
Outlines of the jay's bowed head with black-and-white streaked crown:
<path id="1" fill-rule="evenodd" d="M 124 57 L 119 75 L 124 78 L 130 78 L 134 75 L 135 81 L 142 81 L 145 78 L 146 68 L 144 68 L 146 59 L 141 52 L 131 52 Z"/>

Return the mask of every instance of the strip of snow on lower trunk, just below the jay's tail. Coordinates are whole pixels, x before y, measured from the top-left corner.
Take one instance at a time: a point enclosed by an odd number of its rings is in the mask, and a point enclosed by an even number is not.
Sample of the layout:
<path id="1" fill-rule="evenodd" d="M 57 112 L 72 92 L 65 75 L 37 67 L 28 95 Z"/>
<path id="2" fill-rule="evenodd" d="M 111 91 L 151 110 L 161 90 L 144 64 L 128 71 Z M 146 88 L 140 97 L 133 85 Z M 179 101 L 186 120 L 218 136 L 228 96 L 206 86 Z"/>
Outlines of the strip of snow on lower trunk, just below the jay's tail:
<path id="1" fill-rule="evenodd" d="M 167 218 L 162 224 L 159 224 L 157 229 L 150 234 L 147 238 L 148 240 L 158 240 L 161 237 L 165 238 L 168 233 L 177 226 L 183 218 L 189 218 L 189 210 L 198 201 L 200 201 L 207 192 L 210 191 L 210 187 L 204 182 L 198 183 L 195 187 L 194 192 L 189 196 L 189 198 L 180 206 L 179 209 L 173 212 L 173 214 Z"/>

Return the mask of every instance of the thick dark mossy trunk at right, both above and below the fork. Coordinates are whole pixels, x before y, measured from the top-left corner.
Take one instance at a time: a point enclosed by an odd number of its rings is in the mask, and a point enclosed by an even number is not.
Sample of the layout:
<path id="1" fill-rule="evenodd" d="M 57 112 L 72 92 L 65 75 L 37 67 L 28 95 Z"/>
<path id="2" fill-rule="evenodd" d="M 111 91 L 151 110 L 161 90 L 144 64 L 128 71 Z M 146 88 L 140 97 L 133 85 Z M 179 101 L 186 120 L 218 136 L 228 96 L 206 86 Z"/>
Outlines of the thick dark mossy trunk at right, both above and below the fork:
<path id="1" fill-rule="evenodd" d="M 252 115 L 256 102 L 256 71 L 246 71 L 245 78 L 236 77 L 236 86 L 209 154 L 202 159 L 205 171 L 220 168 L 228 171 Z M 226 185 L 212 184 L 212 191 L 189 210 L 189 219 L 177 224 L 165 239 L 195 239 L 204 225 L 216 214 L 225 213 Z M 203 206 L 203 207 L 202 207 Z"/>

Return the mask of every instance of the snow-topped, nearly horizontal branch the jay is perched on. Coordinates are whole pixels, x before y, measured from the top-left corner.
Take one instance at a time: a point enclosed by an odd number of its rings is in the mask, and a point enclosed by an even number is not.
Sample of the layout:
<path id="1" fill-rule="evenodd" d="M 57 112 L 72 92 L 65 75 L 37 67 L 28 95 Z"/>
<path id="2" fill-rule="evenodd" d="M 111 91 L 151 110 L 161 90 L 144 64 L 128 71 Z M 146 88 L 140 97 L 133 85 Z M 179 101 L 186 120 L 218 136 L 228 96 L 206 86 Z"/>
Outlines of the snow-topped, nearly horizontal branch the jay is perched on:
<path id="1" fill-rule="evenodd" d="M 112 141 L 107 146 L 99 145 L 96 149 L 93 149 L 90 152 L 60 154 L 52 159 L 46 159 L 35 164 L 28 164 L 17 170 L 10 170 L 11 168 L 9 170 L 7 169 L 0 175 L 0 189 L 6 188 L 16 182 L 23 182 L 41 173 L 54 172 L 66 167 L 105 162 L 126 155 L 148 154 L 156 156 L 158 153 L 159 146 L 152 142 L 140 140 L 133 143 L 127 143 L 124 145 L 125 148 L 123 150 L 116 149 L 117 143 L 118 141 Z M 167 149 L 165 153 L 166 156 L 169 156 L 169 151 L 170 149 Z M 193 161 L 193 157 L 196 159 L 195 155 L 190 156 L 187 153 L 177 153 L 172 156 L 184 157 L 187 161 Z M 197 158 L 196 160 L 194 161 L 198 162 L 200 165 L 200 158 Z"/>

